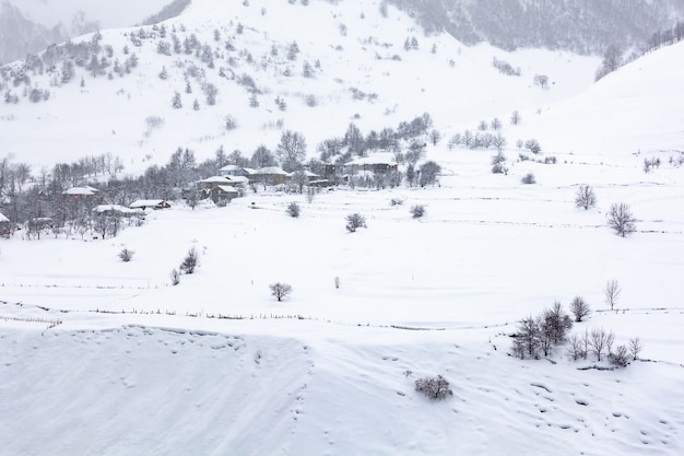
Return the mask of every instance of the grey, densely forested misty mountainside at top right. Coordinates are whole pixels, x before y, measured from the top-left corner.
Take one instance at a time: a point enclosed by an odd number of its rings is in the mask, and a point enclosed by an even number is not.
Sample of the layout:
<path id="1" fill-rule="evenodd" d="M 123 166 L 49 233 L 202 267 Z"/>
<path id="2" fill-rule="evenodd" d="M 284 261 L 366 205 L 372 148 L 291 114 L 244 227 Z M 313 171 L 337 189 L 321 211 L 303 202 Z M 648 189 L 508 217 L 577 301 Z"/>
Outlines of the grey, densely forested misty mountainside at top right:
<path id="1" fill-rule="evenodd" d="M 684 16 L 682 0 L 390 0 L 429 31 L 504 49 L 545 47 L 581 54 L 638 46 Z"/>

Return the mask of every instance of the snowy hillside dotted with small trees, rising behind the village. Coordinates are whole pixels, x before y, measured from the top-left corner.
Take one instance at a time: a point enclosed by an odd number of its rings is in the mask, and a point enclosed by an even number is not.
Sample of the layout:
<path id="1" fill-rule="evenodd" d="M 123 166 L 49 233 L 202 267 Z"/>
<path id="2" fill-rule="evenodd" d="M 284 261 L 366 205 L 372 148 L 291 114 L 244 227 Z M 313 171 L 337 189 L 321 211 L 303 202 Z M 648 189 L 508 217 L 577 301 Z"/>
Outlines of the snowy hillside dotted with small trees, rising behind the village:
<path id="1" fill-rule="evenodd" d="M 384 17 L 351 0 L 308 7 L 197 0 L 163 27 L 104 31 L 93 38 L 42 57 L 57 59 L 56 68 L 5 67 L 3 93 L 16 104 L 0 106 L 9 127 L 2 150 L 36 168 L 111 152 L 138 172 L 150 160 L 164 163 L 178 147 L 199 159 L 221 145 L 250 155 L 292 129 L 303 132 L 311 155 L 319 141 L 342 135 L 352 121 L 368 131 L 423 113 L 439 129 L 506 118 L 588 87 L 598 66 L 595 58 L 567 52 L 509 54 L 465 47 L 448 35 L 425 37 L 396 9 Z M 406 50 L 411 38 L 417 49 Z M 299 51 L 290 56 L 295 43 Z M 520 68 L 521 75 L 502 74 L 494 58 Z M 533 85 L 538 73 L 549 75 L 549 90 Z M 172 107 L 176 92 L 178 109 Z M 236 129 L 226 129 L 228 118 Z"/>

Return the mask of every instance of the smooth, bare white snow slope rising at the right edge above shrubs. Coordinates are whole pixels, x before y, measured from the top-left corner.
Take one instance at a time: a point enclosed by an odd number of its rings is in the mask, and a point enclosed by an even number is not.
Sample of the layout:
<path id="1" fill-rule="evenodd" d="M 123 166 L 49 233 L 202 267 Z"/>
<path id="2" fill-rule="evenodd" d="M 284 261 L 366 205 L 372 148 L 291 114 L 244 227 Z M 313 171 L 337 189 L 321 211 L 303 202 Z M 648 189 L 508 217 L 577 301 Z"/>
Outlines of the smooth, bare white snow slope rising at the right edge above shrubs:
<path id="1" fill-rule="evenodd" d="M 684 43 L 648 54 L 571 100 L 542 109 L 527 131 L 549 150 L 582 160 L 682 150 L 683 55 Z"/>

